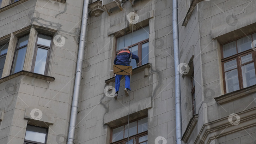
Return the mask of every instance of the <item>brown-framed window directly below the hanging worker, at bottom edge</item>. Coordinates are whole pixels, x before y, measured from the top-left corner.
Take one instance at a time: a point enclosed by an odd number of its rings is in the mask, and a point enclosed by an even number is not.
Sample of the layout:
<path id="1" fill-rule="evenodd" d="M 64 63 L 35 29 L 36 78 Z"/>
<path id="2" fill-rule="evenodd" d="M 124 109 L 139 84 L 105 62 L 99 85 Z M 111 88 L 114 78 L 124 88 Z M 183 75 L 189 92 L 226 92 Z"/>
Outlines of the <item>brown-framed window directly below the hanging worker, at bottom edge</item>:
<path id="1" fill-rule="evenodd" d="M 111 144 L 127 144 L 128 125 L 125 124 L 112 129 Z M 148 143 L 148 118 L 143 118 L 129 123 L 129 142 L 128 144 L 147 144 Z"/>

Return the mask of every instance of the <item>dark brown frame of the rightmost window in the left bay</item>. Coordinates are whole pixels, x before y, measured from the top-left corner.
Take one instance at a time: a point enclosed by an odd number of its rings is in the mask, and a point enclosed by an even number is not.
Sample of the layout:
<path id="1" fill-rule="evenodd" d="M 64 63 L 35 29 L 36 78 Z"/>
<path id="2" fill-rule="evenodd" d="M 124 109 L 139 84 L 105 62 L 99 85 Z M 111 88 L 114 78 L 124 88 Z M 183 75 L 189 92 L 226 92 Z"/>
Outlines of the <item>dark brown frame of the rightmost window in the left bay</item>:
<path id="1" fill-rule="evenodd" d="M 36 43 L 35 43 L 35 50 L 34 50 L 34 57 L 33 57 L 33 62 L 32 62 L 32 66 L 31 66 L 31 72 L 34 72 L 35 61 L 36 61 L 36 56 L 37 56 L 37 50 L 38 50 L 38 48 L 42 48 L 42 49 L 48 50 L 47 51 L 47 57 L 46 57 L 46 64 L 45 64 L 45 72 L 44 72 L 44 75 L 46 75 L 48 70 L 49 70 L 49 64 L 50 64 L 50 58 L 49 57 L 50 57 L 50 53 L 52 51 L 52 41 L 53 41 L 53 38 L 51 39 L 50 46 L 40 45 L 40 44 L 37 43 L 39 34 L 45 35 L 45 36 L 49 36 L 49 37 L 52 38 L 52 36 L 48 35 L 48 34 L 44 34 L 44 33 L 38 33 L 37 34 Z"/>

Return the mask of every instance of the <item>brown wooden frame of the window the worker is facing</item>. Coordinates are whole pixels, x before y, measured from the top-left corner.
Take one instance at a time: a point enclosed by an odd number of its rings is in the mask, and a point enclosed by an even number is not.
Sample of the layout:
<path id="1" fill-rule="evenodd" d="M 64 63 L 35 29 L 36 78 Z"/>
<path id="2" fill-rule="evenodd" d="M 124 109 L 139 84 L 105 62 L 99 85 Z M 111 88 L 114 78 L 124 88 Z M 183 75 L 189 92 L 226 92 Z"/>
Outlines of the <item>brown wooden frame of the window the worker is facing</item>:
<path id="1" fill-rule="evenodd" d="M 148 27 L 148 26 L 145 26 L 145 27 Z M 143 28 L 143 27 L 142 27 Z M 136 29 L 136 30 L 134 30 L 133 32 L 135 32 L 135 31 L 137 31 L 137 30 L 139 30 L 139 29 L 142 29 L 142 28 L 138 28 L 138 29 Z M 129 32 L 129 33 L 131 33 L 131 32 Z M 129 34 L 129 33 L 126 33 L 126 34 Z M 125 35 L 122 35 L 122 36 L 119 36 L 119 37 L 117 37 L 116 39 L 118 39 L 118 38 L 120 38 L 120 37 L 123 37 L 123 36 L 125 36 Z M 149 38 L 148 39 L 144 39 L 144 40 L 142 40 L 142 41 L 140 41 L 140 42 L 137 42 L 136 44 L 133 44 L 133 45 L 130 45 L 130 46 L 127 46 L 128 48 L 131 48 L 131 47 L 133 47 L 133 46 L 135 46 L 135 45 L 138 45 L 138 57 L 139 57 L 139 66 L 141 66 L 141 61 L 142 61 L 142 44 L 144 44 L 144 43 L 147 43 L 147 42 L 149 42 Z M 121 50 L 117 50 L 117 40 L 116 40 L 116 46 L 115 46 L 116 48 L 115 48 L 115 51 L 116 51 L 116 53 L 115 53 L 115 57 L 117 56 L 117 54 L 120 52 L 120 51 L 122 51 L 123 49 L 121 49 Z"/>

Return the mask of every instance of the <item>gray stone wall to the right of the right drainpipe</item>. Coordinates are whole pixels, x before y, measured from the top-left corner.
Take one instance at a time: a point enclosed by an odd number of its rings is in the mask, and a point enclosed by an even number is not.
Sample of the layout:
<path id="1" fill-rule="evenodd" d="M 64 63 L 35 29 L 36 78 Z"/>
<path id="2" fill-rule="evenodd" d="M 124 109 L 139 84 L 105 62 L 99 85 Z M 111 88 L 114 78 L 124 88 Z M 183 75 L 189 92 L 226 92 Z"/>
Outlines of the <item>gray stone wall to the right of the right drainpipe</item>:
<path id="1" fill-rule="evenodd" d="M 255 4 L 255 0 L 202 1 L 196 5 L 186 27 L 179 25 L 180 63 L 188 64 L 187 59 L 194 55 L 196 111 L 199 114 L 197 125 L 187 143 L 194 143 L 195 141 L 198 142 L 198 139 L 203 139 L 200 137 L 200 134 L 204 133 L 204 131 L 200 132 L 201 129 L 204 129 L 203 125 L 217 123 L 221 119 L 226 119 L 228 123 L 230 114 L 239 113 L 241 115 L 255 107 L 255 103 L 252 102 L 254 93 L 224 104 L 218 104 L 214 99 L 214 97 L 224 94 L 220 46 L 224 42 L 255 31 L 254 26 L 249 27 L 248 31 L 242 32 L 242 29 L 240 30 L 240 28 L 247 25 L 255 24 L 256 21 L 253 16 L 255 15 L 255 9 L 252 9 Z M 179 1 L 179 9 L 181 9 L 179 10 L 179 21 L 182 23 L 187 12 L 185 0 Z M 193 51 L 189 50 L 191 45 L 194 46 Z M 188 98 L 191 95 L 188 90 L 190 89 L 190 79 L 188 77 L 188 75 L 185 75 L 184 78 L 181 78 L 183 133 L 192 117 L 191 99 Z M 224 123 L 222 124 L 224 125 Z M 226 134 L 224 131 L 221 134 L 217 132 L 217 128 L 213 129 L 216 130 L 215 134 L 217 136 L 215 137 L 221 137 L 216 139 L 216 143 L 253 143 L 255 141 L 253 136 L 248 136 L 248 134 L 254 132 L 253 130 L 236 129 L 234 134 Z M 248 129 L 254 129 L 254 127 L 251 126 Z M 236 136 L 236 133 L 239 133 L 239 135 Z M 213 135 L 211 136 L 213 137 Z M 245 137 L 248 139 L 246 140 Z"/>

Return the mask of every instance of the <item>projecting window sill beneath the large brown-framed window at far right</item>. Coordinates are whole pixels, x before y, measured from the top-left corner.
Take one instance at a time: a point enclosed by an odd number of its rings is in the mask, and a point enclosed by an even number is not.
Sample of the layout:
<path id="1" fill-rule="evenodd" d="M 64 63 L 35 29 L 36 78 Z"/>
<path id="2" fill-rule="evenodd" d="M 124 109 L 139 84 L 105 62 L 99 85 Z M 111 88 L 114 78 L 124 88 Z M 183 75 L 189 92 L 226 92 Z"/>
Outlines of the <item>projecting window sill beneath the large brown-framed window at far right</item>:
<path id="1" fill-rule="evenodd" d="M 223 94 L 219 97 L 214 98 L 216 100 L 216 102 L 218 102 L 219 104 L 223 104 L 229 101 L 232 101 L 234 99 L 237 98 L 241 98 L 244 97 L 250 93 L 256 92 L 256 85 L 253 85 L 251 87 L 246 87 L 231 93 L 227 93 L 227 94 Z"/>

